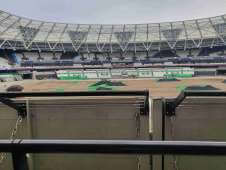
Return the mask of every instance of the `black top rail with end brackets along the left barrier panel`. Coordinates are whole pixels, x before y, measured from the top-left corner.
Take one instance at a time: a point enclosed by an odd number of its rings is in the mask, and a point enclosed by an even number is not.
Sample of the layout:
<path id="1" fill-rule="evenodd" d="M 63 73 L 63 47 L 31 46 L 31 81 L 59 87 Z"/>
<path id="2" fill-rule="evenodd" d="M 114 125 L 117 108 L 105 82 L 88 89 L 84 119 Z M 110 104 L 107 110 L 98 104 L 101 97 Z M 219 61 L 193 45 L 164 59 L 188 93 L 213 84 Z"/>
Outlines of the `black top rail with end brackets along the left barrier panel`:
<path id="1" fill-rule="evenodd" d="M 15 109 L 18 115 L 26 117 L 26 104 L 15 103 L 13 99 L 18 97 L 103 97 L 103 96 L 135 96 L 144 97 L 140 107 L 141 114 L 149 113 L 149 91 L 67 91 L 67 92 L 3 92 L 0 93 L 0 102 Z"/>

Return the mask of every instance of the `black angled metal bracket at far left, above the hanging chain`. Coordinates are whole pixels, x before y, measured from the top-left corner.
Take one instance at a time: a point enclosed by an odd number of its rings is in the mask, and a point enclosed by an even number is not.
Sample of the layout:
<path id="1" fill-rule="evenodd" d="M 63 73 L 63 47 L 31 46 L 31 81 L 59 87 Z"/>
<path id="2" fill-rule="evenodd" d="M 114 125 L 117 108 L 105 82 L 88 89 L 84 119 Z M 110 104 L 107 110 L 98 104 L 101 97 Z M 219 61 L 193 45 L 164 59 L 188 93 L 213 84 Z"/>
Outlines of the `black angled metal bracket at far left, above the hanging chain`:
<path id="1" fill-rule="evenodd" d="M 15 103 L 14 101 L 0 97 L 0 102 L 17 111 L 18 116 L 25 118 L 27 116 L 26 104 Z"/>

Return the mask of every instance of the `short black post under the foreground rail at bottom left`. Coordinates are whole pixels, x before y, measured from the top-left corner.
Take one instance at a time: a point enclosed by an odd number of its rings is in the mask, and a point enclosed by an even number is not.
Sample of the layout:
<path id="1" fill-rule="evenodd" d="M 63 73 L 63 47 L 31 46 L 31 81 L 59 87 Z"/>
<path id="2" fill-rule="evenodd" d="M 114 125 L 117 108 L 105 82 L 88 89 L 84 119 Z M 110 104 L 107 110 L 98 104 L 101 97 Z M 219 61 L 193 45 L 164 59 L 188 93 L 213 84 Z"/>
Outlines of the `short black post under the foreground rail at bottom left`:
<path id="1" fill-rule="evenodd" d="M 13 152 L 12 158 L 14 170 L 29 170 L 26 153 Z"/>

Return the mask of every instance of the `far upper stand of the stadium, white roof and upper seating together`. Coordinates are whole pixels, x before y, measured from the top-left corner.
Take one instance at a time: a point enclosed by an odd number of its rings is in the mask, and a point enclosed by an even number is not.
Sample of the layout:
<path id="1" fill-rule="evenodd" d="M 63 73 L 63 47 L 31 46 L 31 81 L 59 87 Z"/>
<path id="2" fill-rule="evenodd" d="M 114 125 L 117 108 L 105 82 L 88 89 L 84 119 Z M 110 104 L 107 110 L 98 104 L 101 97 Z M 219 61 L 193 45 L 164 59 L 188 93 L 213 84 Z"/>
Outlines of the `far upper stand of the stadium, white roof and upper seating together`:
<path id="1" fill-rule="evenodd" d="M 226 15 L 150 24 L 44 22 L 0 11 L 0 66 L 225 63 Z"/>

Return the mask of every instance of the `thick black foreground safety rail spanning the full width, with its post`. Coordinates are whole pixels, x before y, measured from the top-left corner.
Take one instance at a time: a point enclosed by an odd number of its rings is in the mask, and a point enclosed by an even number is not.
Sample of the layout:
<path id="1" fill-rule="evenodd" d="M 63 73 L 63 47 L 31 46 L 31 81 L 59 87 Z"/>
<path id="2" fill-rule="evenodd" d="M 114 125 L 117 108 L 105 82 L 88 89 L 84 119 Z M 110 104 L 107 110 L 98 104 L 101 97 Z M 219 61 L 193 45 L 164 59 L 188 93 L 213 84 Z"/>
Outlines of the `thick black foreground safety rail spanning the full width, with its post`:
<path id="1" fill-rule="evenodd" d="M 27 153 L 226 155 L 226 142 L 134 140 L 0 140 L 14 170 L 29 170 Z"/>

